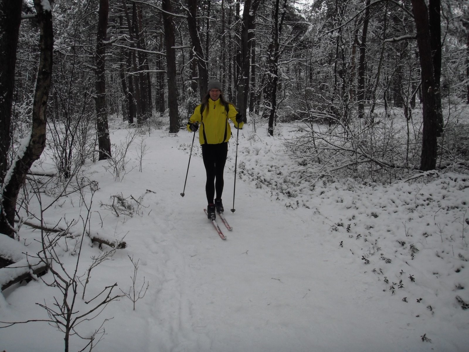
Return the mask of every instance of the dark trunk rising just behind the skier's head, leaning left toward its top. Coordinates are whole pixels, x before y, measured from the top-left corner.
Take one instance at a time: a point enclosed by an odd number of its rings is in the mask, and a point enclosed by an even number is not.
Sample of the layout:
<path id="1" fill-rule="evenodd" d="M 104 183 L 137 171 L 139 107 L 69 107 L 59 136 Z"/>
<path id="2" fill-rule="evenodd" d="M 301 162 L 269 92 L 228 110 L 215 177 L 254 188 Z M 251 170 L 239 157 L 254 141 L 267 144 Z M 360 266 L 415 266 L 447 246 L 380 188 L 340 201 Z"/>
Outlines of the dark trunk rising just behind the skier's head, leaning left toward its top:
<path id="1" fill-rule="evenodd" d="M 197 61 L 197 68 L 199 70 L 199 94 L 200 99 L 207 94 L 208 84 L 208 69 L 205 62 L 204 49 L 200 41 L 199 32 L 197 30 L 197 0 L 189 0 L 189 14 L 187 16 L 187 23 L 189 25 L 190 40 L 194 47 L 195 59 Z M 166 30 L 166 28 L 165 28 Z"/>

